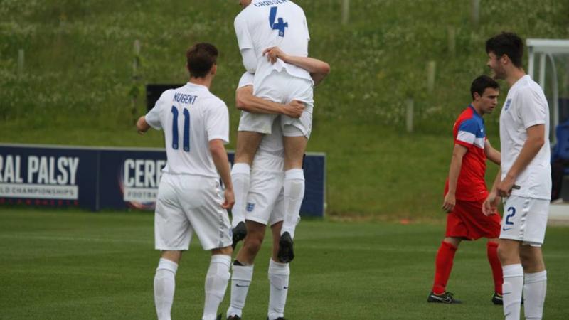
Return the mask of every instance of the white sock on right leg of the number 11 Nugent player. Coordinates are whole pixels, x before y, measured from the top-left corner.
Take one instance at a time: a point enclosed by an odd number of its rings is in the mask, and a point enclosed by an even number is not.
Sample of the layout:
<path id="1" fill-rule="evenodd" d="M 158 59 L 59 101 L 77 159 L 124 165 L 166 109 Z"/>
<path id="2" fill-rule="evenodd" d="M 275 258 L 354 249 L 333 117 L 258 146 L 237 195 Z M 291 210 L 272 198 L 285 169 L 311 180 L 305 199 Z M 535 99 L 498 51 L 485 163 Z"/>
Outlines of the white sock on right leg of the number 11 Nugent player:
<path id="1" fill-rule="evenodd" d="M 212 255 L 206 274 L 206 302 L 203 305 L 202 320 L 215 320 L 218 306 L 225 296 L 225 289 L 229 281 L 229 255 Z"/>

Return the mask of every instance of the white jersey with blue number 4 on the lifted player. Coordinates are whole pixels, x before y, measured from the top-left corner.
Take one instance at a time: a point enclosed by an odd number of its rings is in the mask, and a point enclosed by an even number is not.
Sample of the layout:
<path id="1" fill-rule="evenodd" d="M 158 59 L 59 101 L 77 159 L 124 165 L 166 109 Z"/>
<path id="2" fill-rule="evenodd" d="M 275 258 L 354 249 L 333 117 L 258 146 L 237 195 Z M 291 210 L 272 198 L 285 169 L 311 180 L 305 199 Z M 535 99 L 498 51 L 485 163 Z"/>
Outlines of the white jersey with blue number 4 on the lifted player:
<path id="1" fill-rule="evenodd" d="M 262 56 L 263 50 L 275 46 L 289 55 L 308 56 L 308 23 L 300 6 L 289 0 L 253 0 L 235 17 L 234 24 L 239 50 L 255 50 L 255 77 L 262 80 L 272 70 L 285 69 L 289 75 L 312 81 L 307 70 L 280 59 L 272 64 Z"/>

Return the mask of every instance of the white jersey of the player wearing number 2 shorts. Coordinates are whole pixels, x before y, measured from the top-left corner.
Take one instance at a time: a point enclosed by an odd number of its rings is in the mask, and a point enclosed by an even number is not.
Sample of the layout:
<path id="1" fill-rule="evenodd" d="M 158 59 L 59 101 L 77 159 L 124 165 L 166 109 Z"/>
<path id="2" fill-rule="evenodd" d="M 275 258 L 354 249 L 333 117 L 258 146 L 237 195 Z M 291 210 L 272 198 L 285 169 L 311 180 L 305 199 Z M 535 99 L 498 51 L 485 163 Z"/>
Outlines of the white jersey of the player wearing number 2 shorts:
<path id="1" fill-rule="evenodd" d="M 545 124 L 545 144 L 516 178 L 515 184 L 519 188 L 514 188 L 511 194 L 550 199 L 549 107 L 541 87 L 529 75 L 524 75 L 510 88 L 500 113 L 502 179 L 506 177 L 528 139 L 526 129 L 536 124 Z"/>

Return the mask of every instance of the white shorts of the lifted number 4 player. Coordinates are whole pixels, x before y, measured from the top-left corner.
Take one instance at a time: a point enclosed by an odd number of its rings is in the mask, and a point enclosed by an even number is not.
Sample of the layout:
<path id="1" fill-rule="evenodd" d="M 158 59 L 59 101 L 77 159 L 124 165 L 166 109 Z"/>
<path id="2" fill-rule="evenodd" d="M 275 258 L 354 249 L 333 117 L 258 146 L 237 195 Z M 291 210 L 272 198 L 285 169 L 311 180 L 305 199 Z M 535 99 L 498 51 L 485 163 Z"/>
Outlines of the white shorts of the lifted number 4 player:
<path id="1" fill-rule="evenodd" d="M 312 131 L 312 109 L 314 107 L 312 82 L 303 78 L 293 77 L 285 70 L 273 71 L 260 83 L 253 85 L 253 94 L 272 102 L 288 104 L 292 100 L 304 102 L 305 109 L 299 119 L 282 115 L 282 133 L 286 137 L 310 137 Z M 241 112 L 239 131 L 260 132 L 270 134 L 272 122 L 278 114 L 259 114 Z"/>

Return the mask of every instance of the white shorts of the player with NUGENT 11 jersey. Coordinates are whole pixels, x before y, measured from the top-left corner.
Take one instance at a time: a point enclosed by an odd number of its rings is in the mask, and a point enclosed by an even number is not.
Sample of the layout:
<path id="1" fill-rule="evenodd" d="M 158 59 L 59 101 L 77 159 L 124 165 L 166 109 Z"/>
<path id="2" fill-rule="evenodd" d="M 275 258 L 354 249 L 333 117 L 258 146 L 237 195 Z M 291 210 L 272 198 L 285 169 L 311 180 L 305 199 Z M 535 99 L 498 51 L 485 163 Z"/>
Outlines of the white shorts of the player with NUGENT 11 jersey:
<path id="1" fill-rule="evenodd" d="M 156 250 L 188 250 L 194 231 L 203 250 L 231 245 L 231 225 L 221 203 L 216 178 L 162 174 L 154 215 Z"/>

